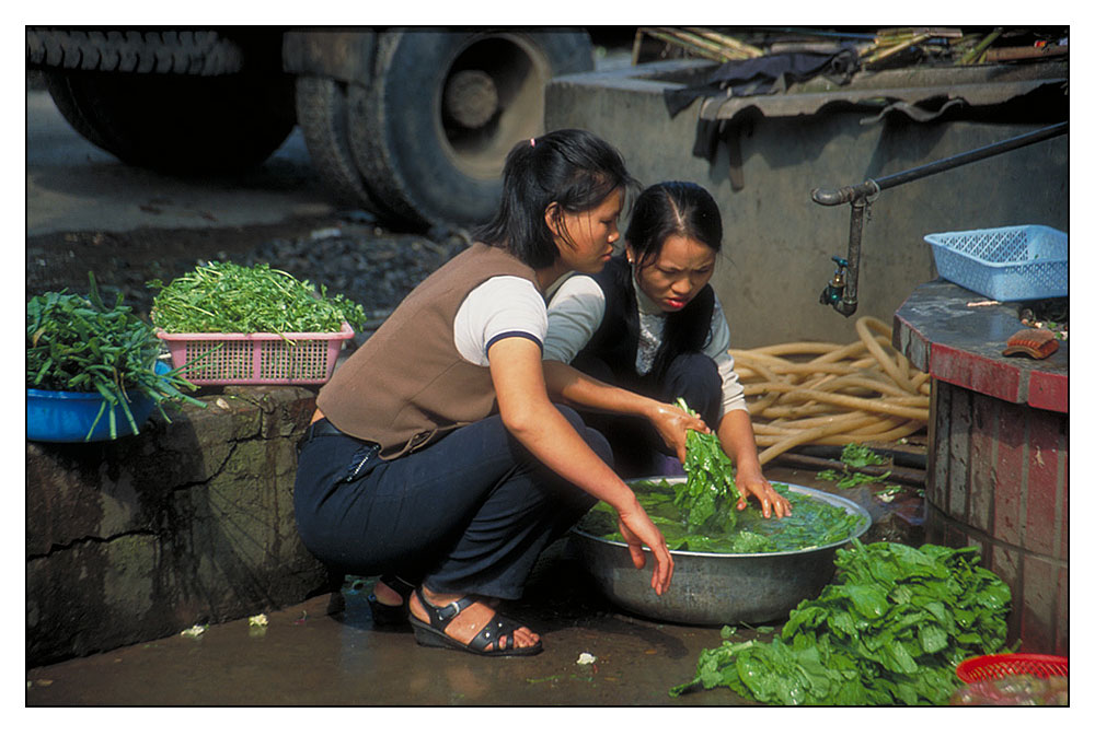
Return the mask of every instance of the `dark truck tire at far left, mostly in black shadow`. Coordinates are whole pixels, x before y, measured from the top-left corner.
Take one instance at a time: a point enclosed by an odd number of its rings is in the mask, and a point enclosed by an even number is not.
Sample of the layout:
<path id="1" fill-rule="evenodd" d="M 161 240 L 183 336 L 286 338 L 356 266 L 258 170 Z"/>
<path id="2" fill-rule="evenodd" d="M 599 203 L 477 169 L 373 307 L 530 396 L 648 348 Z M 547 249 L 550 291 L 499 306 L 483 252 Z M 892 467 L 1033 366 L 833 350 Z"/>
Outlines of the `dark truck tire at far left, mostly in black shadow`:
<path id="1" fill-rule="evenodd" d="M 279 49 L 273 34 L 26 33 L 27 63 L 77 132 L 127 164 L 183 175 L 251 168 L 292 131 Z"/>

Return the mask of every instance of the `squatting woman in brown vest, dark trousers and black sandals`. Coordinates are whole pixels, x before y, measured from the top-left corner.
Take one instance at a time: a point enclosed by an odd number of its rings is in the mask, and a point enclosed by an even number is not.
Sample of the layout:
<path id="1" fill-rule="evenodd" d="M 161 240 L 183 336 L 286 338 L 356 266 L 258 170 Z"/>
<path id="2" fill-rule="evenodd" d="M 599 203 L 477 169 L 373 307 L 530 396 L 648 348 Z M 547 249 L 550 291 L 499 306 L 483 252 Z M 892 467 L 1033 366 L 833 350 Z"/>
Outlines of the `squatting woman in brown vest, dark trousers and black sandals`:
<path id="1" fill-rule="evenodd" d="M 485 655 L 541 651 L 496 611 L 519 598 L 540 552 L 589 507 L 616 510 L 636 568 L 672 558 L 610 467 L 604 437 L 565 405 L 650 421 L 683 460 L 672 405 L 544 370 L 544 293 L 603 268 L 634 185 L 620 154 L 581 130 L 516 145 L 479 242 L 420 283 L 320 392 L 295 490 L 301 538 L 336 570 L 381 574 L 377 622 L 408 618 L 419 644 Z M 413 581 L 408 583 L 406 581 Z"/>

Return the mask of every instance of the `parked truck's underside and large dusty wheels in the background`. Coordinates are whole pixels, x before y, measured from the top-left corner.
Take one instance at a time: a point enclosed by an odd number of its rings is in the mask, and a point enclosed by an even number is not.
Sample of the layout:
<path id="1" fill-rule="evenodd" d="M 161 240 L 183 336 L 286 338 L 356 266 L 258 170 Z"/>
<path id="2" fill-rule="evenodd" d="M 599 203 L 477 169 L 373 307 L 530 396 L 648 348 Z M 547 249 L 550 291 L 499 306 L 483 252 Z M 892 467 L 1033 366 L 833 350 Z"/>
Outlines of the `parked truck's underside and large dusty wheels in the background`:
<path id="1" fill-rule="evenodd" d="M 549 79 L 592 69 L 579 28 L 26 28 L 68 122 L 127 164 L 256 166 L 300 125 L 342 203 L 403 226 L 489 215 Z"/>

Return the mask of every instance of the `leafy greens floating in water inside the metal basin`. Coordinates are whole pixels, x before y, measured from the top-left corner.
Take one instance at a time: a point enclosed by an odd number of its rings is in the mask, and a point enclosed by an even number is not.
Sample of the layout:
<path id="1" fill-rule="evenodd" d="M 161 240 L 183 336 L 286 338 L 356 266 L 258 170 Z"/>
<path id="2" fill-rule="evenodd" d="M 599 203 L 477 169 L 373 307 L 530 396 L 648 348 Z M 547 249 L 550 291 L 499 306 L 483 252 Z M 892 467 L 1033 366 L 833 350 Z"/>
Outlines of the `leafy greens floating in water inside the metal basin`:
<path id="1" fill-rule="evenodd" d="M 729 531 L 705 534 L 691 531 L 677 509 L 677 492 L 669 481 L 634 481 L 630 483 L 639 504 L 657 525 L 670 550 L 751 554 L 786 552 L 825 547 L 850 539 L 863 523 L 863 517 L 849 513 L 805 493 L 791 491 L 785 483 L 773 488 L 794 506 L 794 516 L 764 518 L 760 509 L 747 506 L 737 512 L 738 524 Z M 611 541 L 621 541 L 615 514 L 600 502 L 578 523 L 587 534 Z"/>

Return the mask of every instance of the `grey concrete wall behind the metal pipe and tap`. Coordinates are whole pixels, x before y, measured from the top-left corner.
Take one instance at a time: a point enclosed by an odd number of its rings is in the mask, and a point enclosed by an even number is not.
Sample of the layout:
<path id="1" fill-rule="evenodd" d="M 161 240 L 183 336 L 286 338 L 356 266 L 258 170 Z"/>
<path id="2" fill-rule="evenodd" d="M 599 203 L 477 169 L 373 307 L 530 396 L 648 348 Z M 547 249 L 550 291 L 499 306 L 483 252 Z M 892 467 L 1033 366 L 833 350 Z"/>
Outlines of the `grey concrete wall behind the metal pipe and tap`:
<path id="1" fill-rule="evenodd" d="M 692 155 L 699 103 L 670 118 L 662 100 L 673 83 L 658 81 L 671 77 L 658 69 L 698 63 L 558 78 L 548 85 L 545 124 L 603 137 L 645 185 L 688 179 L 712 192 L 726 232 L 712 283 L 735 347 L 851 342 L 857 317 L 889 323 L 915 285 L 937 276 L 927 233 L 1034 223 L 1068 232 L 1068 136 L 887 189 L 864 225 L 860 307 L 845 318 L 819 296 L 831 256 L 846 255 L 851 208 L 816 205 L 811 189 L 896 174 L 1047 124 L 920 124 L 891 115 L 865 125 L 863 112 L 753 117 L 741 131 L 745 186 L 735 191 L 725 143 L 714 162 Z"/>

